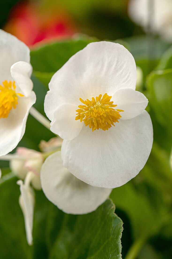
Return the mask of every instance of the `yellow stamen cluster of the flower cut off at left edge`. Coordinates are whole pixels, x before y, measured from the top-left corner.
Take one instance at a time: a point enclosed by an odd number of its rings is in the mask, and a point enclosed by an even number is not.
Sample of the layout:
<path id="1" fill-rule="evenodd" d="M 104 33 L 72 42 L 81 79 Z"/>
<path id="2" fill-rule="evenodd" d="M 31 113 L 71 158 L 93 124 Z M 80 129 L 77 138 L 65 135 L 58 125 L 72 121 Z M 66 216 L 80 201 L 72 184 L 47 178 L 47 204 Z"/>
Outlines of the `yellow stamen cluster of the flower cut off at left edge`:
<path id="1" fill-rule="evenodd" d="M 15 92 L 15 82 L 7 82 L 6 80 L 0 85 L 0 119 L 7 118 L 10 110 L 12 108 L 16 108 L 16 104 L 18 104 L 17 100 L 19 96 L 24 96 L 21 93 Z"/>

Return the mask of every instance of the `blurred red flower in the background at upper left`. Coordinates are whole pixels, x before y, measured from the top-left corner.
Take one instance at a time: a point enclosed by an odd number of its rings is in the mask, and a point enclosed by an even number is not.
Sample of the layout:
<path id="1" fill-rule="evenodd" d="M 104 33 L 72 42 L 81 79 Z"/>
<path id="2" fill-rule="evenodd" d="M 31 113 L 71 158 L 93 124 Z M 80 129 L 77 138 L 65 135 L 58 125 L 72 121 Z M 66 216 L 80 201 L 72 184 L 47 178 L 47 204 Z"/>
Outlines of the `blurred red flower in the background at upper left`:
<path id="1" fill-rule="evenodd" d="M 39 3 L 21 1 L 11 10 L 4 30 L 15 35 L 28 46 L 40 41 L 64 39 L 77 32 L 67 11 Z"/>

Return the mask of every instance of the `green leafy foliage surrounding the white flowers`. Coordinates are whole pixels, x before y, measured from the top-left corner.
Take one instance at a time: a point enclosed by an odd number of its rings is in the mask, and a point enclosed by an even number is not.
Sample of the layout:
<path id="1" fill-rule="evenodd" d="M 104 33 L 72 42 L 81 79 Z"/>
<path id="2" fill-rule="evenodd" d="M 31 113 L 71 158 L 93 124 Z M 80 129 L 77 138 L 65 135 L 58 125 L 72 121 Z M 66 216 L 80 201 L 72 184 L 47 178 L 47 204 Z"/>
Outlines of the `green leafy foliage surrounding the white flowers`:
<path id="1" fill-rule="evenodd" d="M 7 2 L 7 5 L 1 2 L 7 8 L 6 13 L 14 1 Z M 125 1 L 118 1 L 118 4 L 117 1 L 107 2 L 76 1 L 71 12 L 76 19 L 80 19 L 81 24 L 86 21 L 82 32 L 123 44 L 142 69 L 143 83 L 139 91 L 149 100 L 147 111 L 154 130 L 151 155 L 134 179 L 114 189 L 111 200 L 87 215 L 67 215 L 51 204 L 42 191 L 35 191 L 32 247 L 26 241 L 24 219 L 18 204 L 20 192 L 17 178 L 8 174 L 8 163 L 1 162 L 0 167 L 4 168 L 2 179 L 6 177 L 9 180 L 0 182 L 0 258 L 121 258 L 121 243 L 123 259 L 171 258 L 172 171 L 169 159 L 172 146 L 172 48 L 159 38 L 141 35 L 142 29 L 134 26 L 125 14 Z M 44 2 L 45 6 L 51 4 L 52 1 Z M 64 4 L 71 10 L 72 1 L 66 0 Z M 90 22 L 93 18 L 89 20 L 91 14 L 95 19 L 92 26 Z M 106 17 L 110 19 L 107 21 Z M 113 17 L 123 21 L 121 26 L 113 27 L 116 24 Z M 1 24 L 5 19 L 4 10 Z M 52 75 L 73 54 L 97 40 L 80 35 L 31 51 L 32 80 L 37 95 L 34 106 L 44 116 L 43 102 Z M 29 115 L 19 146 L 39 150 L 40 140 L 49 140 L 53 136 Z M 113 203 L 115 213 L 121 219 L 114 214 Z"/>

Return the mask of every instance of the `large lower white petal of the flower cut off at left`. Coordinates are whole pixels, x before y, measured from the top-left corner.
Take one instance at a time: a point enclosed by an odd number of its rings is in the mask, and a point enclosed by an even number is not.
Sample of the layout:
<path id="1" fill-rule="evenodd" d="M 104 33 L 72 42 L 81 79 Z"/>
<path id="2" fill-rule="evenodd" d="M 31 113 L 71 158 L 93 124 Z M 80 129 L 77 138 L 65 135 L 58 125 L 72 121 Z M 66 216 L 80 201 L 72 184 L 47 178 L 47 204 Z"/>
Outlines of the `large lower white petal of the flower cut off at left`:
<path id="1" fill-rule="evenodd" d="M 16 109 L 12 109 L 7 118 L 0 119 L 0 156 L 11 152 L 22 139 L 29 110 L 35 102 L 33 91 L 27 98 L 19 96 Z"/>

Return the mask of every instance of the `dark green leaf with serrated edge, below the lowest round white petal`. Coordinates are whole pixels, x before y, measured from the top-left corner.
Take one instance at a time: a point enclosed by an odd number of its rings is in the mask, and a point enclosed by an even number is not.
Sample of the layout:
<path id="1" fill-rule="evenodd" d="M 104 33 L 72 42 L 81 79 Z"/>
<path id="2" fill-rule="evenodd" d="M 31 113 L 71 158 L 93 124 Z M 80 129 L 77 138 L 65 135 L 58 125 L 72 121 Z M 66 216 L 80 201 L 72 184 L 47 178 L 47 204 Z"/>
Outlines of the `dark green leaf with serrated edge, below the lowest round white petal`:
<path id="1" fill-rule="evenodd" d="M 69 228 L 71 217 L 75 220 L 72 229 Z M 64 245 L 61 239 L 57 239 L 50 258 L 121 258 L 121 231 L 122 222 L 114 214 L 111 200 L 107 200 L 95 212 L 77 216 L 77 219 L 65 215 L 60 233 Z"/>

